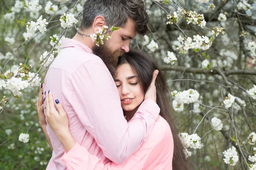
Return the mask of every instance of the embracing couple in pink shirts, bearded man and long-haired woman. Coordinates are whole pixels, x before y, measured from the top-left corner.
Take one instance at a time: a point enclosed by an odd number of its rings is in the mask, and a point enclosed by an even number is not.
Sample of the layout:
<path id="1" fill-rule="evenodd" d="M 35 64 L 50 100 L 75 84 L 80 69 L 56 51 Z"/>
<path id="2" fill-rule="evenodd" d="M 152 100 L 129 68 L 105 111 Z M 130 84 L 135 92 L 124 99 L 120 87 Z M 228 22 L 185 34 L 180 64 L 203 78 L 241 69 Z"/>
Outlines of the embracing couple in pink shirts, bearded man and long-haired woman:
<path id="1" fill-rule="evenodd" d="M 99 47 L 64 39 L 37 103 L 52 149 L 47 170 L 186 170 L 166 79 L 155 59 L 129 49 L 148 30 L 142 0 L 87 0 L 79 32 L 119 27 Z"/>

